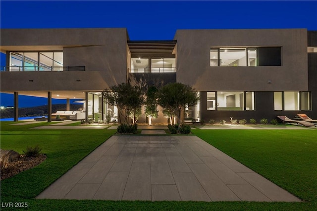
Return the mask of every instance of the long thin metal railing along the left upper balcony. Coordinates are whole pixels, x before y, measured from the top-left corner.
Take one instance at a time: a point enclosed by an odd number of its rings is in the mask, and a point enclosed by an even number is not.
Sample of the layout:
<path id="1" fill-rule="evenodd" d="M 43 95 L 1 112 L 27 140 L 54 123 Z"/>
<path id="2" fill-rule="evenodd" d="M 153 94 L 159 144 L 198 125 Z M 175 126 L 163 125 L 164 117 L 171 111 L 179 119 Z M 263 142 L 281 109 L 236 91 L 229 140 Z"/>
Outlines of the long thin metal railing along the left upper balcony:
<path id="1" fill-rule="evenodd" d="M 60 71 L 85 71 L 85 66 L 6 66 L 0 67 L 1 72 L 60 72 Z"/>

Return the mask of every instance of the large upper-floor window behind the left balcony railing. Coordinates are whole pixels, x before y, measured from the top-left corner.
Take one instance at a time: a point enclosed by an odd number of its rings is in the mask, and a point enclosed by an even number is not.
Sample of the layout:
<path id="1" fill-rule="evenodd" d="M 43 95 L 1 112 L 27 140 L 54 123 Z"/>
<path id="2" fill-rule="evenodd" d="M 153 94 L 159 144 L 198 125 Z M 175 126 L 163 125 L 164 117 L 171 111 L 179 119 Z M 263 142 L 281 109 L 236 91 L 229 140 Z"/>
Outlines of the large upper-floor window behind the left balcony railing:
<path id="1" fill-rule="evenodd" d="M 63 52 L 10 52 L 10 71 L 63 71 Z"/>

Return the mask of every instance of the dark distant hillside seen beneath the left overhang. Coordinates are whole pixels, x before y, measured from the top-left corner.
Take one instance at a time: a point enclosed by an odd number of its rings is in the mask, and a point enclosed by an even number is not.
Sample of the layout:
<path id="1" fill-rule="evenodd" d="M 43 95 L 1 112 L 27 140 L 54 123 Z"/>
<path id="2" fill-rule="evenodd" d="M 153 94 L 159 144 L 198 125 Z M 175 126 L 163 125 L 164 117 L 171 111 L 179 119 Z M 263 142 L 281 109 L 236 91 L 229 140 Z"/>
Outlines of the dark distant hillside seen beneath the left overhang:
<path id="1" fill-rule="evenodd" d="M 79 111 L 83 105 L 70 104 L 70 111 Z M 53 104 L 52 113 L 66 110 L 66 104 Z M 0 109 L 0 118 L 13 118 L 13 108 Z M 48 115 L 48 106 L 36 106 L 30 108 L 19 108 L 19 117 L 46 116 Z"/>

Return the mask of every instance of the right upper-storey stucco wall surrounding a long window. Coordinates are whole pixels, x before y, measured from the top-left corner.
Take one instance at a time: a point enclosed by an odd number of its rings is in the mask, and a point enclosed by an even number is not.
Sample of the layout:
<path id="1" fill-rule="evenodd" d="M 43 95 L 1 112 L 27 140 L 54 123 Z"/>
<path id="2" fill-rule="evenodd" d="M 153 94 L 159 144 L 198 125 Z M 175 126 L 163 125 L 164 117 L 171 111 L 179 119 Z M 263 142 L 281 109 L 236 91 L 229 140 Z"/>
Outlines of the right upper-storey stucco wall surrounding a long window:
<path id="1" fill-rule="evenodd" d="M 177 30 L 177 82 L 197 90 L 307 90 L 307 30 Z M 281 66 L 210 67 L 211 47 L 281 46 Z M 267 80 L 272 83 L 268 84 Z"/>

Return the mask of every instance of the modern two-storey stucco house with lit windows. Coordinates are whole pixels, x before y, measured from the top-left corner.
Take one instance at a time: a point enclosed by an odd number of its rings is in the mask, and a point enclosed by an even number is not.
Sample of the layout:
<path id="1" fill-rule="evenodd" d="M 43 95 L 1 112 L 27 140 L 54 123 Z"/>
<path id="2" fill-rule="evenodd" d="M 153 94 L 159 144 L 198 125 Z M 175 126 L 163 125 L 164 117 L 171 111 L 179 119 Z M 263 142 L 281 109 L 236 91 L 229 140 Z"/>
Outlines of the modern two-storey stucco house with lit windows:
<path id="1" fill-rule="evenodd" d="M 102 91 L 179 82 L 198 91 L 184 120 L 317 118 L 317 31 L 177 30 L 171 41 L 130 41 L 125 28 L 1 29 L 1 92 L 83 99 L 85 118 L 117 118 Z M 49 114 L 48 121 L 51 121 Z M 146 122 L 145 116 L 140 118 Z M 166 122 L 159 113 L 156 122 Z"/>

